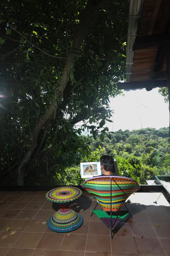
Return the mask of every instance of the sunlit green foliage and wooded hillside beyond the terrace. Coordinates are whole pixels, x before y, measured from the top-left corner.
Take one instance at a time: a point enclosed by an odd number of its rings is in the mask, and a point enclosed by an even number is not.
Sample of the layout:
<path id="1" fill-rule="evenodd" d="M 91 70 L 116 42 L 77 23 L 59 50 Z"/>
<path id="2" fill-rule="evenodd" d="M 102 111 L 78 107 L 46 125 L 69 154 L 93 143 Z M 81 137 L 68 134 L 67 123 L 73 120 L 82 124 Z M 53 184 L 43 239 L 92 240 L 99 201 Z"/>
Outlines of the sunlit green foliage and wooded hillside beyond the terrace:
<path id="1" fill-rule="evenodd" d="M 90 148 L 93 154 L 81 162 L 96 162 L 103 154 L 112 155 L 117 160 L 119 175 L 134 178 L 140 184 L 154 181 L 155 175 L 170 175 L 169 128 L 118 130 L 110 134 L 110 138 L 104 135 L 102 142 L 100 136 L 96 139 L 90 137 Z M 55 175 L 53 182 L 59 185 L 81 184 L 80 165 Z"/>

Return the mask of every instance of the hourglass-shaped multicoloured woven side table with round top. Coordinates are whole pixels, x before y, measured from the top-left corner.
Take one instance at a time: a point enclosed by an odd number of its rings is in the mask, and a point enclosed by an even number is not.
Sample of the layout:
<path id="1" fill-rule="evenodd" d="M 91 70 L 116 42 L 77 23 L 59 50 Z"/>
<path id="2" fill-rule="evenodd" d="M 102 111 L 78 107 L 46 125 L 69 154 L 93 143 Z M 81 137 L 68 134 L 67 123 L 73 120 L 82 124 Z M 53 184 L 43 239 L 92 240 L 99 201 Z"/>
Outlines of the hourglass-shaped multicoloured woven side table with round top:
<path id="1" fill-rule="evenodd" d="M 83 217 L 69 207 L 81 194 L 82 191 L 75 187 L 54 188 L 46 193 L 46 199 L 56 203 L 60 207 L 60 209 L 49 218 L 47 222 L 49 229 L 58 233 L 65 233 L 81 226 Z"/>

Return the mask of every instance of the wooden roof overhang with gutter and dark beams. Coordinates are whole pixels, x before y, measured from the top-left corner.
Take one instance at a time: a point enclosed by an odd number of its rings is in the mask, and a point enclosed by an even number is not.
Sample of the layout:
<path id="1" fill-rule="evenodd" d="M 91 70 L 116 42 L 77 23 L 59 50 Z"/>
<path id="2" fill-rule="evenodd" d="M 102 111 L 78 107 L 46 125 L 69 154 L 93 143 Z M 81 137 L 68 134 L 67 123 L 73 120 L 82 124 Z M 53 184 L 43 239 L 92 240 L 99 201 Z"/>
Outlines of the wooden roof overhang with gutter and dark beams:
<path id="1" fill-rule="evenodd" d="M 167 86 L 169 29 L 169 0 L 130 0 L 126 82 L 118 89 Z"/>

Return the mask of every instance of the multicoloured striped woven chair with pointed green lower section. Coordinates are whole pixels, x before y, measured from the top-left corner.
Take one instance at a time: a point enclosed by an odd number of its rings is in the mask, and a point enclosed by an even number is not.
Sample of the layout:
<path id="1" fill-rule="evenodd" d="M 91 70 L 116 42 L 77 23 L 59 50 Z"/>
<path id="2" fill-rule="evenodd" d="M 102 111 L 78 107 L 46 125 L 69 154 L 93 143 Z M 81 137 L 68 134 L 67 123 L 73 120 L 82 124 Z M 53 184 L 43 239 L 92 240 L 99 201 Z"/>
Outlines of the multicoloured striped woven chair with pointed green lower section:
<path id="1" fill-rule="evenodd" d="M 102 210 L 94 209 L 94 212 L 110 228 L 113 239 L 114 228 L 129 214 L 129 211 L 120 211 L 120 208 L 140 186 L 132 178 L 105 175 L 87 179 L 82 187 L 100 203 Z"/>

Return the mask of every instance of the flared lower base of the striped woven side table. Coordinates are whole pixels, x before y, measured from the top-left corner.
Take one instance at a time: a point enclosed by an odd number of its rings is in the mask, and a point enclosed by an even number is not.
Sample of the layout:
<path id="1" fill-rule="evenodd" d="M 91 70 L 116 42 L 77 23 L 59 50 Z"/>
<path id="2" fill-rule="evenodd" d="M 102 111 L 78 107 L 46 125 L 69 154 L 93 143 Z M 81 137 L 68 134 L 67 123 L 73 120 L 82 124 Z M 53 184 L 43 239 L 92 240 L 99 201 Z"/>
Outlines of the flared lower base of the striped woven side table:
<path id="1" fill-rule="evenodd" d="M 79 228 L 82 223 L 83 218 L 79 213 L 69 207 L 63 207 L 49 218 L 47 226 L 52 231 L 65 233 Z"/>

